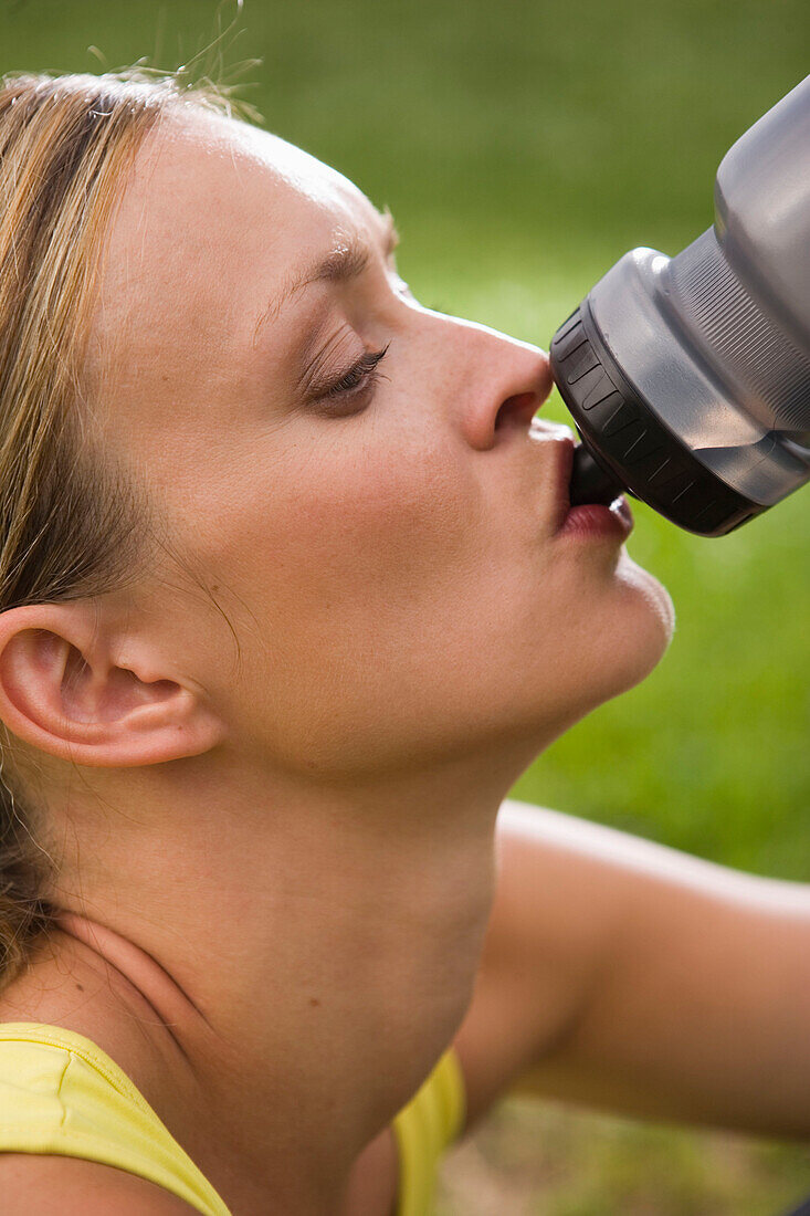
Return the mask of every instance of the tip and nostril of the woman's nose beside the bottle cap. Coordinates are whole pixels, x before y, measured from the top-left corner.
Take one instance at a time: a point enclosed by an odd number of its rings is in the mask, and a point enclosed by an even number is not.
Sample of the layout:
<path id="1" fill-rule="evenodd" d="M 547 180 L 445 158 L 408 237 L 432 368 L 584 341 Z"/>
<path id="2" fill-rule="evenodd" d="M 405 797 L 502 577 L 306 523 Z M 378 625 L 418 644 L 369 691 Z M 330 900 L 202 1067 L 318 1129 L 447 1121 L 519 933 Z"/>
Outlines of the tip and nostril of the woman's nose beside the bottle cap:
<path id="1" fill-rule="evenodd" d="M 476 359 L 463 410 L 466 439 L 478 451 L 495 447 L 517 430 L 528 432 L 553 387 L 545 350 L 497 336 L 500 347 Z"/>

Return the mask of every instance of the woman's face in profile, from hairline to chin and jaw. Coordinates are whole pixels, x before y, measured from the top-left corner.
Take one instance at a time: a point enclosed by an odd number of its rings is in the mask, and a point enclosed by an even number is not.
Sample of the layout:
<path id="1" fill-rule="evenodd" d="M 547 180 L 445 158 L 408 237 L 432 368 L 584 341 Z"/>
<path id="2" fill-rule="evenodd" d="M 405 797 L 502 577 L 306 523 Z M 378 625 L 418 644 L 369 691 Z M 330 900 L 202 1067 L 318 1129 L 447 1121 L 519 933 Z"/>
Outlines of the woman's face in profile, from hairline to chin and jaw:
<path id="1" fill-rule="evenodd" d="M 666 592 L 559 529 L 546 355 L 420 304 L 384 218 L 282 140 L 195 111 L 150 137 L 91 350 L 108 439 L 210 592 L 156 573 L 133 610 L 244 755 L 360 776 L 541 747 L 663 653 Z"/>

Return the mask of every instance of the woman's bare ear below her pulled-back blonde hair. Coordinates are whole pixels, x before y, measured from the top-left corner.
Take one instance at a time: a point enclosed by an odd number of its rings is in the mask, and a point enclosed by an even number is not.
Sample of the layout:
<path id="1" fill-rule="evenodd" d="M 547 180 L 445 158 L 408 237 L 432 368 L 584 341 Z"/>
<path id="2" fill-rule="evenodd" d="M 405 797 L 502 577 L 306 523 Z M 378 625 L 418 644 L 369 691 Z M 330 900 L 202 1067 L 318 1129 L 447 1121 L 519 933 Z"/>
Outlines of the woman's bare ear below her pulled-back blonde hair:
<path id="1" fill-rule="evenodd" d="M 0 719 L 26 743 L 79 765 L 159 764 L 225 738 L 203 689 L 165 666 L 142 638 L 106 631 L 88 601 L 0 613 Z"/>

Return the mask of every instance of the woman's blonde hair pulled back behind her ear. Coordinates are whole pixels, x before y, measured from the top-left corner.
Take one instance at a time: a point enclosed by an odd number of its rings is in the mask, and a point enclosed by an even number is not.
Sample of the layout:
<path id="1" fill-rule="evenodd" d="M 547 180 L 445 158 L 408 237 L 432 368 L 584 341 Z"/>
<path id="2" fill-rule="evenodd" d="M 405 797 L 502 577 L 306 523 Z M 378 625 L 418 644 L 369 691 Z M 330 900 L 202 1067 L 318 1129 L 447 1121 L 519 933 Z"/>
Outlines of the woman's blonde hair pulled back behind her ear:
<path id="1" fill-rule="evenodd" d="M 0 79 L 0 612 L 117 590 L 148 559 L 150 503 L 90 441 L 81 366 L 103 236 L 137 148 L 169 106 L 231 113 L 208 81 L 178 81 Z M 54 863 L 2 733 L 0 991 L 55 913 L 41 896 Z"/>

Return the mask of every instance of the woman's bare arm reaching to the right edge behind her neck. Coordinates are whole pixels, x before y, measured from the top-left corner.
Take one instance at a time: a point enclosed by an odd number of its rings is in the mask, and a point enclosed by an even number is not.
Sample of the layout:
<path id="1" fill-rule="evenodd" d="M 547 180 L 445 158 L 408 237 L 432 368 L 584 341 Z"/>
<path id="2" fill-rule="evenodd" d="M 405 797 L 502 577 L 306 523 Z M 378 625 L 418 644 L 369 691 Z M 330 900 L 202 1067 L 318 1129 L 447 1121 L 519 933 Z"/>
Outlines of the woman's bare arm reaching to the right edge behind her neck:
<path id="1" fill-rule="evenodd" d="M 456 1045 L 500 1093 L 810 1136 L 810 886 L 519 803 Z"/>

